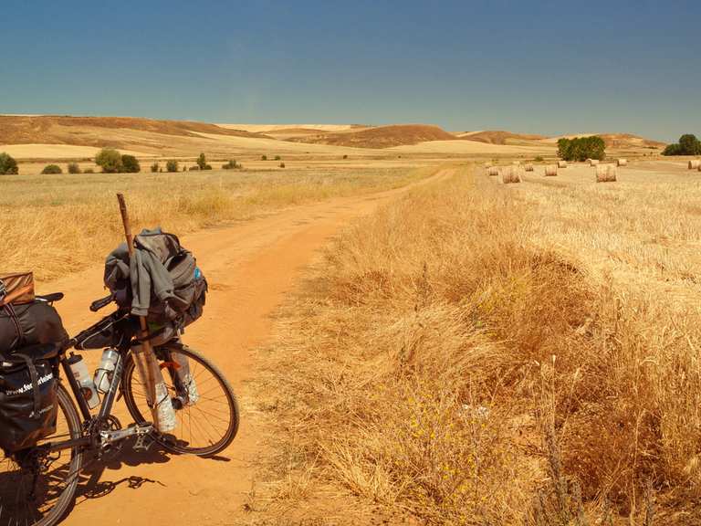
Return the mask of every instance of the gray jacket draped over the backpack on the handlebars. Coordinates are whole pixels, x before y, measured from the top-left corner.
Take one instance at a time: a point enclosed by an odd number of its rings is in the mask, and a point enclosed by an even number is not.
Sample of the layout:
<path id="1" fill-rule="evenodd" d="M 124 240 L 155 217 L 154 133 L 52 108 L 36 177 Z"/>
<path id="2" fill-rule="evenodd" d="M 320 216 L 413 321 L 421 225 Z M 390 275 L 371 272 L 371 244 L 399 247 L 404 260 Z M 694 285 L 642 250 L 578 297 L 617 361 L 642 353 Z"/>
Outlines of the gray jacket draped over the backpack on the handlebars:
<path id="1" fill-rule="evenodd" d="M 173 278 L 165 265 L 168 260 L 150 246 L 149 236 L 162 234 L 161 227 L 143 229 L 134 239 L 134 257 L 129 258 L 127 244 L 115 248 L 105 261 L 105 285 L 116 289 L 121 279 L 131 281 L 131 314 L 146 316 L 152 293 L 162 303 L 175 298 Z"/>

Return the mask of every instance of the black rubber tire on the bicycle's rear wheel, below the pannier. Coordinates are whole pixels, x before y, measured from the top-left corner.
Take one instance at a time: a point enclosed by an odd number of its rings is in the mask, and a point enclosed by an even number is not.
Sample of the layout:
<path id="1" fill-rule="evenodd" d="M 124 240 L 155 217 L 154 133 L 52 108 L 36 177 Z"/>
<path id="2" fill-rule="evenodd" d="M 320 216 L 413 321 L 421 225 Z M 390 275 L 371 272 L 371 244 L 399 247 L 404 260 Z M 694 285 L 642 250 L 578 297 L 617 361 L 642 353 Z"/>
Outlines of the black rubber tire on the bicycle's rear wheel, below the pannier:
<path id="1" fill-rule="evenodd" d="M 68 395 L 68 391 L 63 386 L 63 384 L 58 384 L 57 390 L 57 400 L 58 400 L 58 410 L 63 413 L 68 423 L 68 434 L 71 438 L 77 439 L 82 435 L 82 426 L 80 423 L 80 418 L 78 416 L 78 410 L 76 405 L 73 403 L 73 399 Z M 48 437 L 47 440 L 50 440 Z M 68 476 L 66 478 L 66 487 L 61 491 L 61 495 L 58 497 L 57 503 L 44 514 L 41 519 L 32 523 L 32 526 L 54 526 L 59 521 L 61 521 L 71 504 L 73 503 L 73 498 L 78 487 L 78 475 L 80 474 L 80 468 L 82 468 L 83 453 L 79 447 L 73 447 L 70 451 L 70 461 L 68 463 Z M 0 455 L 0 460 L 3 457 Z M 10 459 L 6 458 L 9 462 Z M 5 513 L 7 513 L 7 508 L 3 507 Z M 10 511 L 11 513 L 11 511 Z M 12 516 L 0 517 L 0 525 L 5 526 L 5 521 L 9 520 L 7 524 L 20 523 L 16 521 Z M 28 522 L 25 522 L 28 524 Z"/>

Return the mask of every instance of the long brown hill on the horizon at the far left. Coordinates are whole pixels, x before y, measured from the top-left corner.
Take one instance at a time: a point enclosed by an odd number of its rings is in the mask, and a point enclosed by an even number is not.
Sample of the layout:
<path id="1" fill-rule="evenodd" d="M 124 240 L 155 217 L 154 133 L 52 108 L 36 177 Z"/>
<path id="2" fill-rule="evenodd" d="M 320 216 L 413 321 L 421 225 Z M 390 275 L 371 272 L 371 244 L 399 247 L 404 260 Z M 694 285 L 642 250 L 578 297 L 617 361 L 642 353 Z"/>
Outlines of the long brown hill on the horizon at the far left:
<path id="1" fill-rule="evenodd" d="M 211 133 L 235 137 L 266 137 L 261 133 L 221 128 L 195 121 L 160 121 L 137 117 L 71 117 L 59 115 L 0 115 L 0 144 L 75 144 L 115 146 L 128 143 L 125 131 L 179 137 Z"/>

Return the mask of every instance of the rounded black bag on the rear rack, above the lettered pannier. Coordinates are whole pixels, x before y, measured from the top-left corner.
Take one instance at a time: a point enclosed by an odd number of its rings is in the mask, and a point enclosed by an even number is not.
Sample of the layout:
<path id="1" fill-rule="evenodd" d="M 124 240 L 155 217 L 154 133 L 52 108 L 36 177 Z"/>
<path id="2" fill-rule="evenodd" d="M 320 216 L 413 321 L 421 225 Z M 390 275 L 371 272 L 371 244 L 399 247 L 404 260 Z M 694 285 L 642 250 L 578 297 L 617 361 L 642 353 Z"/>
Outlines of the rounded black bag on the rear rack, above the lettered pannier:
<path id="1" fill-rule="evenodd" d="M 28 345 L 68 340 L 61 317 L 44 300 L 0 307 L 0 354 L 8 356 Z"/>

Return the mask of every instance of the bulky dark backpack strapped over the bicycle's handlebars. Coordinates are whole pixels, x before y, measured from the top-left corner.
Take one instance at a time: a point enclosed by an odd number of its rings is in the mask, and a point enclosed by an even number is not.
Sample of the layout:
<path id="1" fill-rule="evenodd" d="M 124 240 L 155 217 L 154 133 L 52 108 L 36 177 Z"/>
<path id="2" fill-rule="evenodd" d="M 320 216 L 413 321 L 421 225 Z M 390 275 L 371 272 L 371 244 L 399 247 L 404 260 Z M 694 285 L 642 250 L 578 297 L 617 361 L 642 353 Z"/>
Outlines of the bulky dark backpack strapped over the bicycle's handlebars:
<path id="1" fill-rule="evenodd" d="M 197 261 L 192 252 L 180 244 L 173 234 L 162 232 L 160 228 L 144 230 L 134 237 L 134 249 L 146 250 L 161 261 L 168 275 L 173 280 L 173 297 L 159 300 L 152 292 L 151 303 L 146 320 L 152 327 L 174 325 L 182 330 L 202 316 L 206 300 L 207 280 L 197 268 Z M 112 255 L 120 251 L 113 252 Z M 122 251 L 123 256 L 123 251 Z M 127 265 L 113 263 L 108 258 L 105 267 L 105 284 L 115 294 L 117 303 L 123 309 L 131 307 L 131 281 Z"/>

